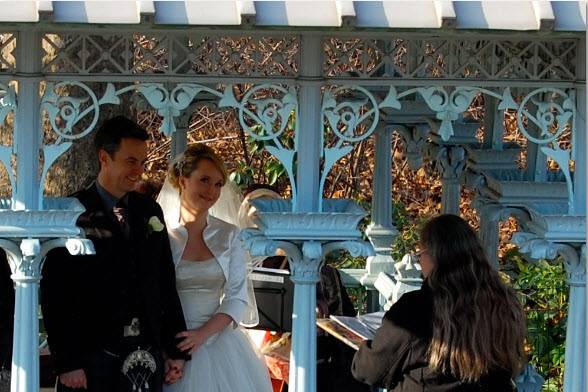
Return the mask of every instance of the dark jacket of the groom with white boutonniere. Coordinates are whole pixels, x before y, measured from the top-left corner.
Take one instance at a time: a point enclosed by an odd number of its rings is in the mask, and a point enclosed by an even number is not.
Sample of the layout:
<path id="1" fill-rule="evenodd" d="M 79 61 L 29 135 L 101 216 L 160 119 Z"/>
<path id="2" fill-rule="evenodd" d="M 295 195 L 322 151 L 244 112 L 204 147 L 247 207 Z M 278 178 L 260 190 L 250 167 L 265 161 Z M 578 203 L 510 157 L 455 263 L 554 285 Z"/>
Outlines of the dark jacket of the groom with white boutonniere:
<path id="1" fill-rule="evenodd" d="M 83 369 L 98 350 L 117 351 L 123 328 L 138 315 L 141 339 L 171 358 L 186 358 L 174 336 L 186 330 L 175 269 L 159 205 L 136 192 L 124 198 L 127 235 L 102 201 L 96 184 L 73 195 L 86 208 L 77 225 L 95 255 L 71 256 L 65 248 L 47 255 L 41 306 L 58 374 Z M 160 228 L 159 228 L 160 229 Z"/>

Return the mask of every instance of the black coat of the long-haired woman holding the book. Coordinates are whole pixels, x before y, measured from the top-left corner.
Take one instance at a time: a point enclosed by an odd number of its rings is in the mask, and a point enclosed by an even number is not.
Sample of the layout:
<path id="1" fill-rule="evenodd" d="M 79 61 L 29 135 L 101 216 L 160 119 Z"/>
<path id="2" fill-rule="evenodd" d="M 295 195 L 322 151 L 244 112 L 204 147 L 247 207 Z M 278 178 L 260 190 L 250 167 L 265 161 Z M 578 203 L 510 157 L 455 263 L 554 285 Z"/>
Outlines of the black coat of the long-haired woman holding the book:
<path id="1" fill-rule="evenodd" d="M 512 392 L 511 375 L 492 368 L 467 383 L 429 367 L 433 296 L 429 285 L 405 293 L 386 312 L 372 340 L 359 347 L 351 371 L 356 379 L 389 392 Z"/>

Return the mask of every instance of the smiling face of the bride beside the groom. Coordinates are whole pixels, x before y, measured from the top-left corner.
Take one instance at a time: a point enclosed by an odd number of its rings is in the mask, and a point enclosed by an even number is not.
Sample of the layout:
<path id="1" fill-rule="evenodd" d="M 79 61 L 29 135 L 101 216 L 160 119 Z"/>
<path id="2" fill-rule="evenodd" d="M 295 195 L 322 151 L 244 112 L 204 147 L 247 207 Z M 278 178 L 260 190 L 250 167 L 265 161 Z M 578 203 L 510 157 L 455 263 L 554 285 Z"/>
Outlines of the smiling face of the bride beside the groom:
<path id="1" fill-rule="evenodd" d="M 213 206 L 224 185 L 223 174 L 216 165 L 203 159 L 188 177 L 180 177 L 179 185 L 184 205 L 194 211 L 205 211 Z"/>

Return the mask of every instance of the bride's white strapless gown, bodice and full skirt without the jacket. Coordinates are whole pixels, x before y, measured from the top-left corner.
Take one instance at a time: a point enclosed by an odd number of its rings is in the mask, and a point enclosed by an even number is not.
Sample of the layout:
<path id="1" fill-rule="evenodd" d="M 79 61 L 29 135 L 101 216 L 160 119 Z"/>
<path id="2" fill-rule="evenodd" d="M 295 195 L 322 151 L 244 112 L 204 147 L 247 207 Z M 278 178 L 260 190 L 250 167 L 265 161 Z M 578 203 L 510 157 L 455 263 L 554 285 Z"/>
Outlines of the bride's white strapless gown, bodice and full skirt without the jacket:
<path id="1" fill-rule="evenodd" d="M 176 287 L 188 328 L 198 328 L 218 310 L 225 277 L 216 258 L 180 260 Z M 241 327 L 227 326 L 211 336 L 186 362 L 184 375 L 166 392 L 271 391 L 268 371 Z"/>

